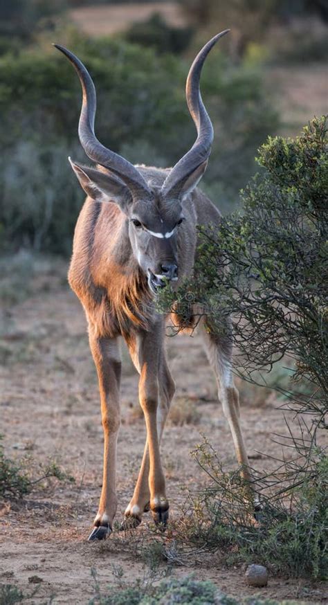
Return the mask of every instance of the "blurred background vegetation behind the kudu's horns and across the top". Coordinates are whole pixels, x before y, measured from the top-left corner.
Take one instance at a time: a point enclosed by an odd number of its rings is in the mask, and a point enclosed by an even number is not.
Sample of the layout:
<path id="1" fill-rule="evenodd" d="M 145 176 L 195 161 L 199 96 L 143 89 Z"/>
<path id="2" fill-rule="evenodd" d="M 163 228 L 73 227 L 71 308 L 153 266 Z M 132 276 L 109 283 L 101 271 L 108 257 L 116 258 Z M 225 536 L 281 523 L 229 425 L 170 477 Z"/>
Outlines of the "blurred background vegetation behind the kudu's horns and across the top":
<path id="1" fill-rule="evenodd" d="M 69 46 L 98 91 L 96 129 L 130 161 L 174 164 L 194 141 L 184 86 L 195 53 L 230 27 L 203 72 L 215 145 L 203 188 L 224 211 L 268 134 L 296 134 L 327 102 L 325 0 L 0 0 L 0 252 L 69 255 L 83 193 L 80 84 L 51 46 Z M 326 70 L 326 72 L 325 72 Z"/>

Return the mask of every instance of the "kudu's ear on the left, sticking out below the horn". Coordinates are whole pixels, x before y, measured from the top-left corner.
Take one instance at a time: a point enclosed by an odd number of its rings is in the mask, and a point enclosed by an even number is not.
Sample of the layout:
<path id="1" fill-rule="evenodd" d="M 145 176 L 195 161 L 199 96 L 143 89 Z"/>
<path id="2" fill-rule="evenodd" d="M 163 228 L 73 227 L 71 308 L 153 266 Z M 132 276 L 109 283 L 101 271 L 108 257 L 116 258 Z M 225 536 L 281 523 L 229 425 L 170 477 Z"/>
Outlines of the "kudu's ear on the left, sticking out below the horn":
<path id="1" fill-rule="evenodd" d="M 113 201 L 120 206 L 123 212 L 127 213 L 132 196 L 129 188 L 118 177 L 108 172 L 100 172 L 95 168 L 82 166 L 73 162 L 71 158 L 69 158 L 69 163 L 86 195 L 95 201 Z"/>

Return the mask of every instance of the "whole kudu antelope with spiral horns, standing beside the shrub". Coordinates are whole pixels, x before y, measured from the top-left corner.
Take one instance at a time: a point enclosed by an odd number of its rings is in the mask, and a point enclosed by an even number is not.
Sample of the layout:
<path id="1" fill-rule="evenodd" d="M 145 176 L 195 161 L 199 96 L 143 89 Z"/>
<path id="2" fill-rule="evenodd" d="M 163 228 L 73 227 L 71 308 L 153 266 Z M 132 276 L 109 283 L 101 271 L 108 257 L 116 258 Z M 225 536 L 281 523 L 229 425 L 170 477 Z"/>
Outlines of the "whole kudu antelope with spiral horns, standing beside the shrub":
<path id="1" fill-rule="evenodd" d="M 71 61 L 82 84 L 80 142 L 97 163 L 88 168 L 71 161 L 86 192 L 78 218 L 69 269 L 69 283 L 84 307 L 89 341 L 98 372 L 104 469 L 98 513 L 90 540 L 111 533 L 116 514 L 116 443 L 120 426 L 120 352 L 125 338 L 140 374 L 139 399 L 147 441 L 134 494 L 122 527 L 138 525 L 150 508 L 156 523 L 167 522 L 169 503 L 161 464 L 160 442 L 174 395 L 174 381 L 164 350 L 165 317 L 154 298 L 168 281 L 190 276 L 197 251 L 197 225 L 218 224 L 220 214 L 197 183 L 206 170 L 213 129 L 199 90 L 203 63 L 217 40 L 199 52 L 188 74 L 186 97 L 197 127 L 197 140 L 172 169 L 132 165 L 104 147 L 94 133 L 95 87 L 73 53 L 55 45 Z M 230 424 L 237 460 L 249 476 L 248 458 L 239 426 L 238 392 L 230 370 L 231 342 L 206 329 L 203 340 L 215 372 L 219 399 Z"/>

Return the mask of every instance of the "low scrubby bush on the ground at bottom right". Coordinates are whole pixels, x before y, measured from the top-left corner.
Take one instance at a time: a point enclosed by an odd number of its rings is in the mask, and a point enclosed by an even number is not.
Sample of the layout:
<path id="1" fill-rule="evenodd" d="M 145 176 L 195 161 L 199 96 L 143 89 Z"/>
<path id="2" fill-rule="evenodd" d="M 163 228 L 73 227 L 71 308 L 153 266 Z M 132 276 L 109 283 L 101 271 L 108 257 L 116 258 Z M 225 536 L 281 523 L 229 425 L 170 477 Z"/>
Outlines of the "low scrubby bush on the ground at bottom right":
<path id="1" fill-rule="evenodd" d="M 301 480 L 300 460 L 308 464 L 308 458 L 300 449 L 297 453 L 298 473 L 292 475 L 289 469 L 283 473 L 282 466 L 275 478 L 254 473 L 259 491 L 262 487 L 262 508 L 255 523 L 253 504 L 247 505 L 246 500 L 248 485 L 238 472 L 224 471 L 205 440 L 193 456 L 210 477 L 210 484 L 193 499 L 192 518 L 188 516 L 188 522 L 181 519 L 180 539 L 207 550 L 222 549 L 230 564 L 259 561 L 275 573 L 325 579 L 328 458 L 322 451 L 313 452 L 311 469 L 307 466 Z"/>

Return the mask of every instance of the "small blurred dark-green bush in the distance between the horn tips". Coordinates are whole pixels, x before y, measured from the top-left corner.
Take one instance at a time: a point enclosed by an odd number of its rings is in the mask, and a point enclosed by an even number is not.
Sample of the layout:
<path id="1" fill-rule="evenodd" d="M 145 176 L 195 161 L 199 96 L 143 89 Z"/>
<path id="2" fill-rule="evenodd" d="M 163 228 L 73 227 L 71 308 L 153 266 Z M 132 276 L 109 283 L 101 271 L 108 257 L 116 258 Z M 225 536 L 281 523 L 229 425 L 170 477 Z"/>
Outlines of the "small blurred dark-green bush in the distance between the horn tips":
<path id="1" fill-rule="evenodd" d="M 155 48 L 159 53 L 182 53 L 190 44 L 192 28 L 172 27 L 160 13 L 154 13 L 147 21 L 132 24 L 124 37 L 128 42 Z"/>

